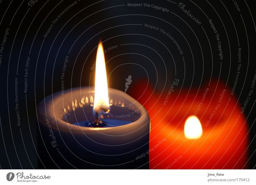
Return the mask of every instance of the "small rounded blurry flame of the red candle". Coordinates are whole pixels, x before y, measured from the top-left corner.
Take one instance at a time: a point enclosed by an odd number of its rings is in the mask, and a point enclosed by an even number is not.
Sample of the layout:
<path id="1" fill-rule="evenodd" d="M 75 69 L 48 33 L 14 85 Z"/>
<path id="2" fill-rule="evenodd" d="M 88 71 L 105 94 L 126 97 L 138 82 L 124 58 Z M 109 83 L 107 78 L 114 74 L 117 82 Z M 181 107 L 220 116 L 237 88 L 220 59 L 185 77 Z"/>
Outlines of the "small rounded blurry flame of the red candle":
<path id="1" fill-rule="evenodd" d="M 198 139 L 202 136 L 202 125 L 196 116 L 188 117 L 184 126 L 184 134 L 188 139 Z"/>

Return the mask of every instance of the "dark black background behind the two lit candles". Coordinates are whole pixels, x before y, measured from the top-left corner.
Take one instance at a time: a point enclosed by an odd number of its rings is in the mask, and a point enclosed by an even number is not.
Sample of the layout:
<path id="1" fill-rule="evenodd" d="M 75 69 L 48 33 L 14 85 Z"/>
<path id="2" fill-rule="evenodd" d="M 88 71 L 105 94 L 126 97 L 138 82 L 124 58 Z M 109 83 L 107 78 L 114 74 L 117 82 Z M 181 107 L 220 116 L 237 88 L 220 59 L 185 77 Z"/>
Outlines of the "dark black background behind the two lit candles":
<path id="1" fill-rule="evenodd" d="M 89 86 L 94 82 L 95 61 L 99 41 L 104 49 L 118 45 L 105 53 L 108 86 L 124 91 L 125 79 L 133 82 L 148 79 L 156 92 L 168 89 L 178 77 L 183 87 L 200 88 L 217 79 L 233 87 L 238 47 L 242 48 L 242 63 L 235 96 L 240 104 L 248 96 L 255 74 L 255 1 L 240 1 L 237 11 L 229 1 L 182 1 L 201 21 L 195 21 L 178 8 L 178 1 L 147 1 L 167 8 L 163 12 L 151 7 L 128 7 L 127 3 L 145 1 L 76 1 L 44 34 L 52 21 L 75 1 L 40 1 L 28 6 L 25 1 L 0 1 L 0 42 L 10 28 L 4 45 L 0 98 L 0 167 L 2 169 L 37 168 L 36 105 L 45 96 L 61 90 L 61 70 L 69 56 L 65 72 L 65 88 Z M 208 17 L 208 18 L 207 18 Z M 217 41 L 208 22 L 220 35 L 223 60 L 219 60 Z M 169 32 L 180 45 L 180 55 L 171 39 L 160 31 L 145 27 L 154 25 Z M 28 92 L 24 93 L 24 74 L 28 56 Z M 90 76 L 92 76 L 90 78 Z M 18 78 L 20 126 L 15 110 L 15 78 Z M 129 94 L 132 90 L 127 90 Z M 130 92 L 129 92 L 130 91 Z M 256 91 L 256 90 L 254 90 Z M 250 135 L 249 167 L 256 165 L 255 93 L 244 112 Z"/>

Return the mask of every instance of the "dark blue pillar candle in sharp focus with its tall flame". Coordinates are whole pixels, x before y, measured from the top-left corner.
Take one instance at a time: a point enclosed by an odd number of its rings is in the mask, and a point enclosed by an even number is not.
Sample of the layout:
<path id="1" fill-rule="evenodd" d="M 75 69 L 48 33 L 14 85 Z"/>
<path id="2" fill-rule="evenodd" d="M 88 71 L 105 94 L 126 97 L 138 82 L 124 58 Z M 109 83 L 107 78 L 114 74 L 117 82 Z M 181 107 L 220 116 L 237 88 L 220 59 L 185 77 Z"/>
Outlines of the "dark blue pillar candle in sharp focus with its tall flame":
<path id="1" fill-rule="evenodd" d="M 108 89 L 102 44 L 95 89 L 54 93 L 39 103 L 37 115 L 43 139 L 39 157 L 46 168 L 148 168 L 147 110 L 126 93 Z M 143 159 L 136 160 L 140 155 Z"/>

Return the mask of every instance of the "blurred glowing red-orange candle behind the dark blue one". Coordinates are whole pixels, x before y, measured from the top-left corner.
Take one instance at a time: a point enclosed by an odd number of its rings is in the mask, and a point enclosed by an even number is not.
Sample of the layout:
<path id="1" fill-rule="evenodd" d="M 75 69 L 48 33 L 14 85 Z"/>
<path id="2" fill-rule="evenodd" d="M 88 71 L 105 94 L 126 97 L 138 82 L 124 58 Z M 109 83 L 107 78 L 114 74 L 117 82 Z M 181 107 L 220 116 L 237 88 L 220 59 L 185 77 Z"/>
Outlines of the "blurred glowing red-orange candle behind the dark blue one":
<path id="1" fill-rule="evenodd" d="M 141 83 L 137 88 L 145 90 Z M 159 97 L 151 89 L 139 95 L 141 98 L 137 94 L 151 119 L 150 168 L 247 168 L 248 126 L 230 92 L 220 82 L 212 82 L 198 92 L 176 89 L 168 99 L 168 92 Z M 190 116 L 185 135 L 185 122 Z"/>

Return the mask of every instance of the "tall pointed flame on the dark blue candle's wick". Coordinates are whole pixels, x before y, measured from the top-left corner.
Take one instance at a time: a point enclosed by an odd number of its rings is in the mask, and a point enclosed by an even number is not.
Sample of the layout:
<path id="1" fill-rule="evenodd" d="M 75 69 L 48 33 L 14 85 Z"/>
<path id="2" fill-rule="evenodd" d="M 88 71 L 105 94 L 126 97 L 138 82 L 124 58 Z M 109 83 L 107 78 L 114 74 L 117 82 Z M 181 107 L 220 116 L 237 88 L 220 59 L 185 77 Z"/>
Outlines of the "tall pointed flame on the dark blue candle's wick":
<path id="1" fill-rule="evenodd" d="M 102 43 L 99 44 L 96 56 L 95 72 L 95 94 L 93 110 L 96 112 L 100 108 L 109 109 L 108 102 L 108 82 L 106 73 L 106 64 Z"/>

